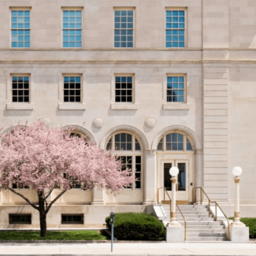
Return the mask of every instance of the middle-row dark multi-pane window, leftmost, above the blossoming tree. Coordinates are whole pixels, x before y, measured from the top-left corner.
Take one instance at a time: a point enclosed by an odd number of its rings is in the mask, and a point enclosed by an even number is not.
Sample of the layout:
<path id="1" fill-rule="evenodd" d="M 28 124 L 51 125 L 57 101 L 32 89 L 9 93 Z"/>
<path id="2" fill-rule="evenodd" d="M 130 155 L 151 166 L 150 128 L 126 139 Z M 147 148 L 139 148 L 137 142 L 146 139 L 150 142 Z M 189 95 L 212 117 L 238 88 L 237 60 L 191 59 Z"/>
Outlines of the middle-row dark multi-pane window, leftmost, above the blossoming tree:
<path id="1" fill-rule="evenodd" d="M 13 102 L 29 102 L 29 76 L 12 77 Z"/>

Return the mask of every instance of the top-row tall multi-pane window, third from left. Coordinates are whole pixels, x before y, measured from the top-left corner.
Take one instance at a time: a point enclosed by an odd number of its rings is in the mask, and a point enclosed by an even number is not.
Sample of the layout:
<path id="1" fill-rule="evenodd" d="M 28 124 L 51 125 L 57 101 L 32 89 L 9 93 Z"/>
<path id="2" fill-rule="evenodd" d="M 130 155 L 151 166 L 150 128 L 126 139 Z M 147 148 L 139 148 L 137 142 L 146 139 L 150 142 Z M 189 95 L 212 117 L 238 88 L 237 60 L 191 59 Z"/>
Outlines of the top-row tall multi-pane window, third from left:
<path id="1" fill-rule="evenodd" d="M 133 10 L 115 10 L 114 46 L 133 47 Z"/>

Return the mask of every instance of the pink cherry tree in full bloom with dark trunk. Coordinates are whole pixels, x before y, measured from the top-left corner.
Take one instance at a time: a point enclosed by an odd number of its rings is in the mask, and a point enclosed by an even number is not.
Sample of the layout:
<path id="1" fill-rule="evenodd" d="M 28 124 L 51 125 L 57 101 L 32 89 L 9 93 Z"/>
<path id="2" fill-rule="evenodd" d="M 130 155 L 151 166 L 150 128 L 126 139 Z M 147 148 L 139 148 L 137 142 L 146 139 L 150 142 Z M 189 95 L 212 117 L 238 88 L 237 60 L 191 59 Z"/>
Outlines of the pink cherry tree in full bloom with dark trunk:
<path id="1" fill-rule="evenodd" d="M 121 161 L 113 154 L 106 154 L 84 137 L 70 136 L 72 128 L 48 128 L 43 121 L 32 125 L 14 126 L 7 134 L 0 132 L 0 190 L 9 190 L 24 198 L 39 210 L 41 236 L 46 236 L 46 214 L 72 182 L 81 189 L 97 186 L 119 193 L 134 180 L 129 170 L 122 170 Z M 72 180 L 69 179 L 72 177 Z M 37 191 L 39 203 L 34 204 L 17 187 L 31 186 Z M 61 187 L 58 196 L 49 202 L 54 187 Z"/>

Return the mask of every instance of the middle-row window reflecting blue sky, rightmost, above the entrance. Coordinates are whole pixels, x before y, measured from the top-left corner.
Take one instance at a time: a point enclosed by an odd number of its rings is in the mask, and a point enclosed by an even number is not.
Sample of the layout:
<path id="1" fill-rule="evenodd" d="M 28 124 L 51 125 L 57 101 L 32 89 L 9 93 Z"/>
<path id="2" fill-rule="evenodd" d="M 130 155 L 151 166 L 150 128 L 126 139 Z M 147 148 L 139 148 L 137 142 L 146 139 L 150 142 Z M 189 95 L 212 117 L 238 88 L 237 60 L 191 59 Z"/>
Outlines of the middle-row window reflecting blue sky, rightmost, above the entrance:
<path id="1" fill-rule="evenodd" d="M 184 76 L 167 76 L 167 102 L 184 102 Z"/>

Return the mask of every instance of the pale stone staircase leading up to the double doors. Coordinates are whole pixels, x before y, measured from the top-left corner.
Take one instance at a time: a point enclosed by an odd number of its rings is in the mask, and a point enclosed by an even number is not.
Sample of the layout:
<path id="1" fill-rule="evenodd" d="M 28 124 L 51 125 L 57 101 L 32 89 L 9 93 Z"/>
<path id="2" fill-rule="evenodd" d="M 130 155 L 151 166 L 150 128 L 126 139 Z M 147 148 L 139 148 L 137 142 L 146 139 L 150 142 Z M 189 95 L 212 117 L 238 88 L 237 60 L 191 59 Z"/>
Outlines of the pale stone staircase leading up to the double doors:
<path id="1" fill-rule="evenodd" d="M 180 205 L 180 210 L 184 214 L 187 223 L 186 242 L 214 242 L 227 241 L 224 225 L 221 221 L 214 221 L 210 215 L 208 207 L 204 205 Z M 165 220 L 170 221 L 170 206 L 162 205 L 165 212 Z M 184 225 L 184 218 L 177 209 L 177 221 Z"/>

